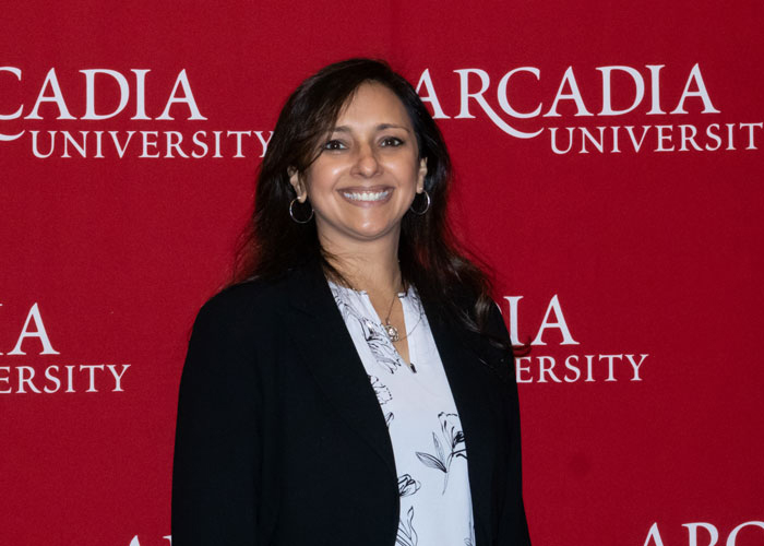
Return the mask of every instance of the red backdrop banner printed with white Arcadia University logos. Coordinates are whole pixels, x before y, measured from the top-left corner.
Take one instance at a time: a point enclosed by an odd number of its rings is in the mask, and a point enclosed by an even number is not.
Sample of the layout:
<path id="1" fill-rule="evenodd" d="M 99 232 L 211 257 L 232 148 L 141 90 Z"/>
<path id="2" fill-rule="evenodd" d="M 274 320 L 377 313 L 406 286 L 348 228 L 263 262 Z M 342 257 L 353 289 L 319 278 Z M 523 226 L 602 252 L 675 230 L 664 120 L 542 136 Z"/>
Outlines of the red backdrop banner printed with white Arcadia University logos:
<path id="1" fill-rule="evenodd" d="M 451 217 L 530 344 L 534 544 L 764 545 L 760 0 L 1 17 L 0 544 L 171 544 L 192 321 L 287 95 L 363 56 L 437 118 Z"/>

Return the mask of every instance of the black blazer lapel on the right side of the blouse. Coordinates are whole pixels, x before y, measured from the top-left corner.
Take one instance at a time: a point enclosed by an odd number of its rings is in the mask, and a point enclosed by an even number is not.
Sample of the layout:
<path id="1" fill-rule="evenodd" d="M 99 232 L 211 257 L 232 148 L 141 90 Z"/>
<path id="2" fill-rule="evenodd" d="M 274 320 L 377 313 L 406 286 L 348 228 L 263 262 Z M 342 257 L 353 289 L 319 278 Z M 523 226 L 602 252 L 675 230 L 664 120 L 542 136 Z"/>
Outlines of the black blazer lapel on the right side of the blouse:
<path id="1" fill-rule="evenodd" d="M 467 448 L 467 472 L 477 544 L 487 544 L 491 510 L 491 475 L 496 442 L 488 424 L 489 397 L 477 367 L 478 355 L 468 348 L 465 332 L 446 323 L 437 309 L 425 305 L 432 336 L 449 379 Z"/>

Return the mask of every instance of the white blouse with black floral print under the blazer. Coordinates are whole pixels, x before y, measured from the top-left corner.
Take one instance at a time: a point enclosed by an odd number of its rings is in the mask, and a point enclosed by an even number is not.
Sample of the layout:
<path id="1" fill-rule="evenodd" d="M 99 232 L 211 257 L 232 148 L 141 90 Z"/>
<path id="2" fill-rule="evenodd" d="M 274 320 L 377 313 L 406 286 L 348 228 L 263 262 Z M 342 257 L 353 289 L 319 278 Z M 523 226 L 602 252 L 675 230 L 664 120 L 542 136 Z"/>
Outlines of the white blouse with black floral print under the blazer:
<path id="1" fill-rule="evenodd" d="M 387 337 L 369 295 L 331 281 L 329 286 L 387 423 L 401 494 L 396 545 L 474 546 L 462 425 L 416 289 L 398 294 L 414 371 Z"/>

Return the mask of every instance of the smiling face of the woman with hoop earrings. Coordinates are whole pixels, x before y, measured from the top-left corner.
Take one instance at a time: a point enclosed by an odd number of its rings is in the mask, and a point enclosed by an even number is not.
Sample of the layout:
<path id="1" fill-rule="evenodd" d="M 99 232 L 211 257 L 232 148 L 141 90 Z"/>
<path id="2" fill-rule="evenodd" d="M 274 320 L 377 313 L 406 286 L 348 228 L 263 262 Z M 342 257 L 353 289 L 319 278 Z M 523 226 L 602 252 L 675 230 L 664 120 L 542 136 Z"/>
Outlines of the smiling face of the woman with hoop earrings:
<path id="1" fill-rule="evenodd" d="M 361 84 L 322 147 L 302 177 L 290 177 L 299 200 L 307 197 L 313 206 L 322 244 L 342 251 L 365 241 L 397 241 L 401 219 L 427 174 L 401 99 L 384 85 Z"/>

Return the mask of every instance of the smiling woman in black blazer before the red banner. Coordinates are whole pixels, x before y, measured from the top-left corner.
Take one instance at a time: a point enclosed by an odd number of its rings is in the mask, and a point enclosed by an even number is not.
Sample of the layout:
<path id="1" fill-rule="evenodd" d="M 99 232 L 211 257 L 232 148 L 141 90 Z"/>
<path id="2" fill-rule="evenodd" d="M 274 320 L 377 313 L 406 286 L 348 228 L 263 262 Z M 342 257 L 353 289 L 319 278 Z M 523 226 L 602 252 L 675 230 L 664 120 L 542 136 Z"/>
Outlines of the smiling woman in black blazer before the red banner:
<path id="1" fill-rule="evenodd" d="M 450 176 L 384 62 L 289 97 L 237 282 L 189 344 L 175 546 L 529 544 L 510 339 L 449 230 Z"/>

